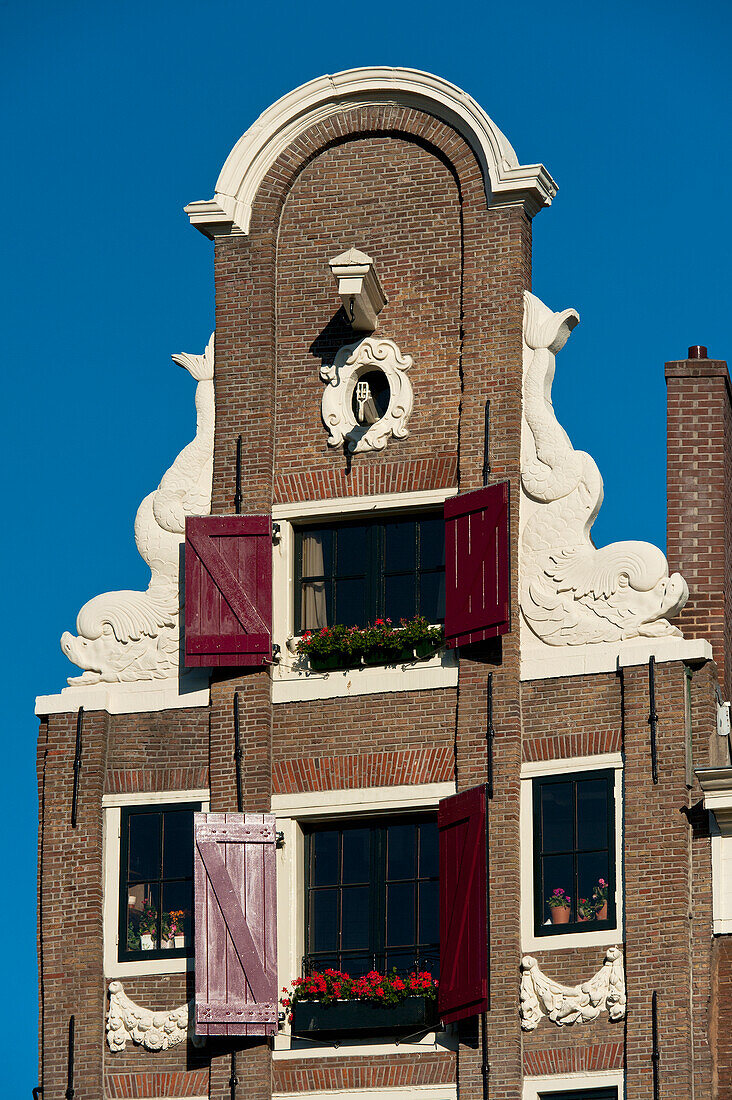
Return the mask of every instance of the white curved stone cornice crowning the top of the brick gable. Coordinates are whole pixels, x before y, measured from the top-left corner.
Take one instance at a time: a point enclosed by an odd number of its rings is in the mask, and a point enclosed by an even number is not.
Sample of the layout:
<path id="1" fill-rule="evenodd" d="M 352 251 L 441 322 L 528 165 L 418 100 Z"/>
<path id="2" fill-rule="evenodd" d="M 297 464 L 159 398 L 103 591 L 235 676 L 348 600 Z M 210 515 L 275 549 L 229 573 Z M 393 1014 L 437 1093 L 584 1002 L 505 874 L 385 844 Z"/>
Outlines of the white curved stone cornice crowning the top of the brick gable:
<path id="1" fill-rule="evenodd" d="M 305 130 L 339 111 L 384 101 L 426 111 L 460 133 L 480 164 L 489 204 L 523 202 L 533 216 L 557 194 L 544 165 L 520 164 L 495 123 L 454 84 L 418 69 L 356 68 L 309 80 L 267 107 L 229 153 L 214 198 L 185 208 L 192 224 L 207 237 L 248 233 L 264 176 Z"/>

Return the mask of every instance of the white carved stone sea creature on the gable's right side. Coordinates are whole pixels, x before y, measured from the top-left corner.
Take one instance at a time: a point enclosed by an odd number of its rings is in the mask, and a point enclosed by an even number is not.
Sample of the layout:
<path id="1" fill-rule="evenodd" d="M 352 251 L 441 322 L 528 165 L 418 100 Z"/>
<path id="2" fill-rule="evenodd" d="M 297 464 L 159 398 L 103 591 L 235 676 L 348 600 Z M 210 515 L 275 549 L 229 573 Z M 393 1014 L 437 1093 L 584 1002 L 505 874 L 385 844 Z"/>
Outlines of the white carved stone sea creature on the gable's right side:
<path id="1" fill-rule="evenodd" d="M 602 477 L 576 451 L 551 405 L 555 356 L 579 322 L 524 295 L 524 416 L 521 442 L 520 603 L 536 639 L 549 646 L 680 636 L 668 623 L 689 591 L 668 575 L 648 542 L 597 548 L 590 528 L 602 505 Z"/>

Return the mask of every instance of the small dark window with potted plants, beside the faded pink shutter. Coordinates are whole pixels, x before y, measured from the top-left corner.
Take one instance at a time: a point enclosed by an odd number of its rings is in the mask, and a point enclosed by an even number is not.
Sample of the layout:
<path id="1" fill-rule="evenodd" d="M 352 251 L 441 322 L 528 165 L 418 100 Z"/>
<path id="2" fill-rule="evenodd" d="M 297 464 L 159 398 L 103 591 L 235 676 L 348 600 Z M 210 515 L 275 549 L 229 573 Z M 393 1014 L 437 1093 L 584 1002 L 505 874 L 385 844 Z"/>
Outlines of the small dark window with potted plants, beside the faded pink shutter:
<path id="1" fill-rule="evenodd" d="M 119 961 L 193 949 L 193 815 L 200 802 L 123 806 Z"/>

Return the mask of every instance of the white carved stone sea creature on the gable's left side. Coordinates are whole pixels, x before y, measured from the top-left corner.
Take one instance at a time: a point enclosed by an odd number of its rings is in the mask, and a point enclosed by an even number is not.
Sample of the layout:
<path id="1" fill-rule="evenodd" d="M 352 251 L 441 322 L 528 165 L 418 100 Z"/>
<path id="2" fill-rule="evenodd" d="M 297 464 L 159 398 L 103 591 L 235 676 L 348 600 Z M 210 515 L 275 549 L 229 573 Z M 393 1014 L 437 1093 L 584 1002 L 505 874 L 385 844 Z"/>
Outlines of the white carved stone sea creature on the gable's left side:
<path id="1" fill-rule="evenodd" d="M 203 355 L 173 360 L 198 383 L 196 436 L 150 493 L 134 520 L 138 550 L 150 566 L 146 592 L 106 592 L 84 605 L 61 648 L 85 669 L 69 684 L 162 680 L 179 670 L 179 562 L 186 516 L 207 516 L 214 472 L 214 337 Z"/>

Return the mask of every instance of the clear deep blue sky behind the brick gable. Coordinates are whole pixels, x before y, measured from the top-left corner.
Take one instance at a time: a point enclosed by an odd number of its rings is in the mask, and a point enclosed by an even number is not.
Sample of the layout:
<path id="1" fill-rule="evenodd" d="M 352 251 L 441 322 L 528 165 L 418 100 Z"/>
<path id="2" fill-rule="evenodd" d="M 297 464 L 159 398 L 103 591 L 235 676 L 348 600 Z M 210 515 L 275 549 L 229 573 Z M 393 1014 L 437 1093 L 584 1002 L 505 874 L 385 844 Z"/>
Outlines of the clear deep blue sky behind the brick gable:
<path id="1" fill-rule="evenodd" d="M 206 344 L 212 249 L 184 205 L 211 197 L 265 107 L 323 73 L 405 65 L 465 88 L 559 184 L 534 223 L 534 290 L 581 317 L 555 406 L 604 476 L 596 541 L 663 546 L 664 361 L 691 343 L 732 356 L 731 24 L 723 0 L 0 6 L 2 920 L 28 1022 L 8 1094 L 37 1079 L 33 697 L 75 671 L 58 638 L 87 598 L 146 586 L 134 513 L 194 431 L 170 355 Z"/>

